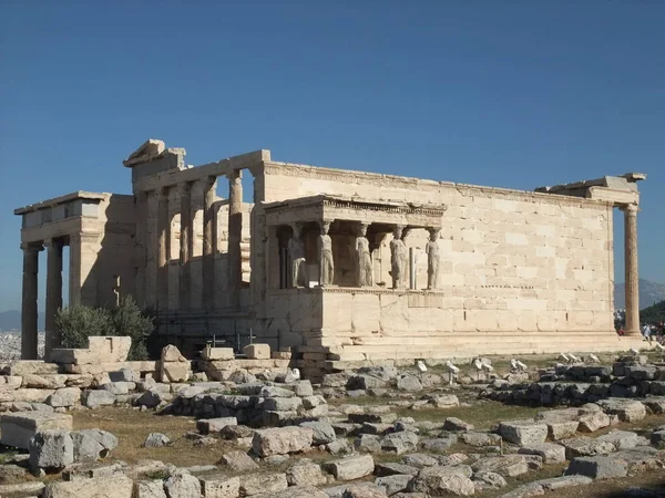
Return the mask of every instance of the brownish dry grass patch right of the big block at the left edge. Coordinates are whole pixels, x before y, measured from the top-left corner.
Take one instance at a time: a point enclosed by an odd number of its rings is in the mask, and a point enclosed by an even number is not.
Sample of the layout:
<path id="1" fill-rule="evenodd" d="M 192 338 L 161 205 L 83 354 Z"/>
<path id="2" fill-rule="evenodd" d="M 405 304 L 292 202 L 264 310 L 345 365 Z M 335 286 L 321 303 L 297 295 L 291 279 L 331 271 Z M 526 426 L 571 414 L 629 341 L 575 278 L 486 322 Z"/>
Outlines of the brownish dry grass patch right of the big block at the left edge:
<path id="1" fill-rule="evenodd" d="M 196 430 L 193 417 L 162 416 L 153 412 L 131 408 L 101 408 L 73 412 L 74 429 L 100 428 L 119 439 L 113 458 L 134 464 L 142 459 L 162 460 L 181 467 L 216 464 L 223 453 L 235 449 L 223 439 L 212 446 L 194 446 L 183 437 Z M 173 442 L 161 448 L 143 448 L 141 445 L 150 433 L 162 433 Z"/>

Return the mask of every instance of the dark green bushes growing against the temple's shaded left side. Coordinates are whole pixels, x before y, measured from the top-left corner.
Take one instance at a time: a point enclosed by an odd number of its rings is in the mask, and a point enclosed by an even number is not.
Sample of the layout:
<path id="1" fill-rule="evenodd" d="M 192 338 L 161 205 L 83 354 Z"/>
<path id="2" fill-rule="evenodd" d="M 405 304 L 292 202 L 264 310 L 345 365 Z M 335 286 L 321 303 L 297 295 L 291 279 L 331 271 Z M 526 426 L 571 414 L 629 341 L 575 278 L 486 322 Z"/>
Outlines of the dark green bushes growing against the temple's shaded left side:
<path id="1" fill-rule="evenodd" d="M 131 295 L 122 298 L 116 309 L 74 305 L 55 317 L 62 347 L 88 347 L 91 335 L 129 335 L 132 349 L 127 360 L 147 360 L 147 341 L 154 331 L 153 318 L 142 312 Z"/>

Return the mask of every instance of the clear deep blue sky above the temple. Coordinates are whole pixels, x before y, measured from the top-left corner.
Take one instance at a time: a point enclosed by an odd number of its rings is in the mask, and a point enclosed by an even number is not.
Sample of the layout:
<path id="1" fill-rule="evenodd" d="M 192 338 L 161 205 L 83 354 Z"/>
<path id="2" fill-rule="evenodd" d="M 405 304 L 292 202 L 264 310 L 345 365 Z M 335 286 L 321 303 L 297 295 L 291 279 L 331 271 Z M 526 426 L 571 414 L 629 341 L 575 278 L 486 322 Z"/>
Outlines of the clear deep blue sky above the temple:
<path id="1" fill-rule="evenodd" d="M 12 210 L 130 193 L 149 137 L 525 190 L 647 173 L 641 277 L 665 282 L 664 25 L 656 0 L 0 1 L 0 310 Z"/>

